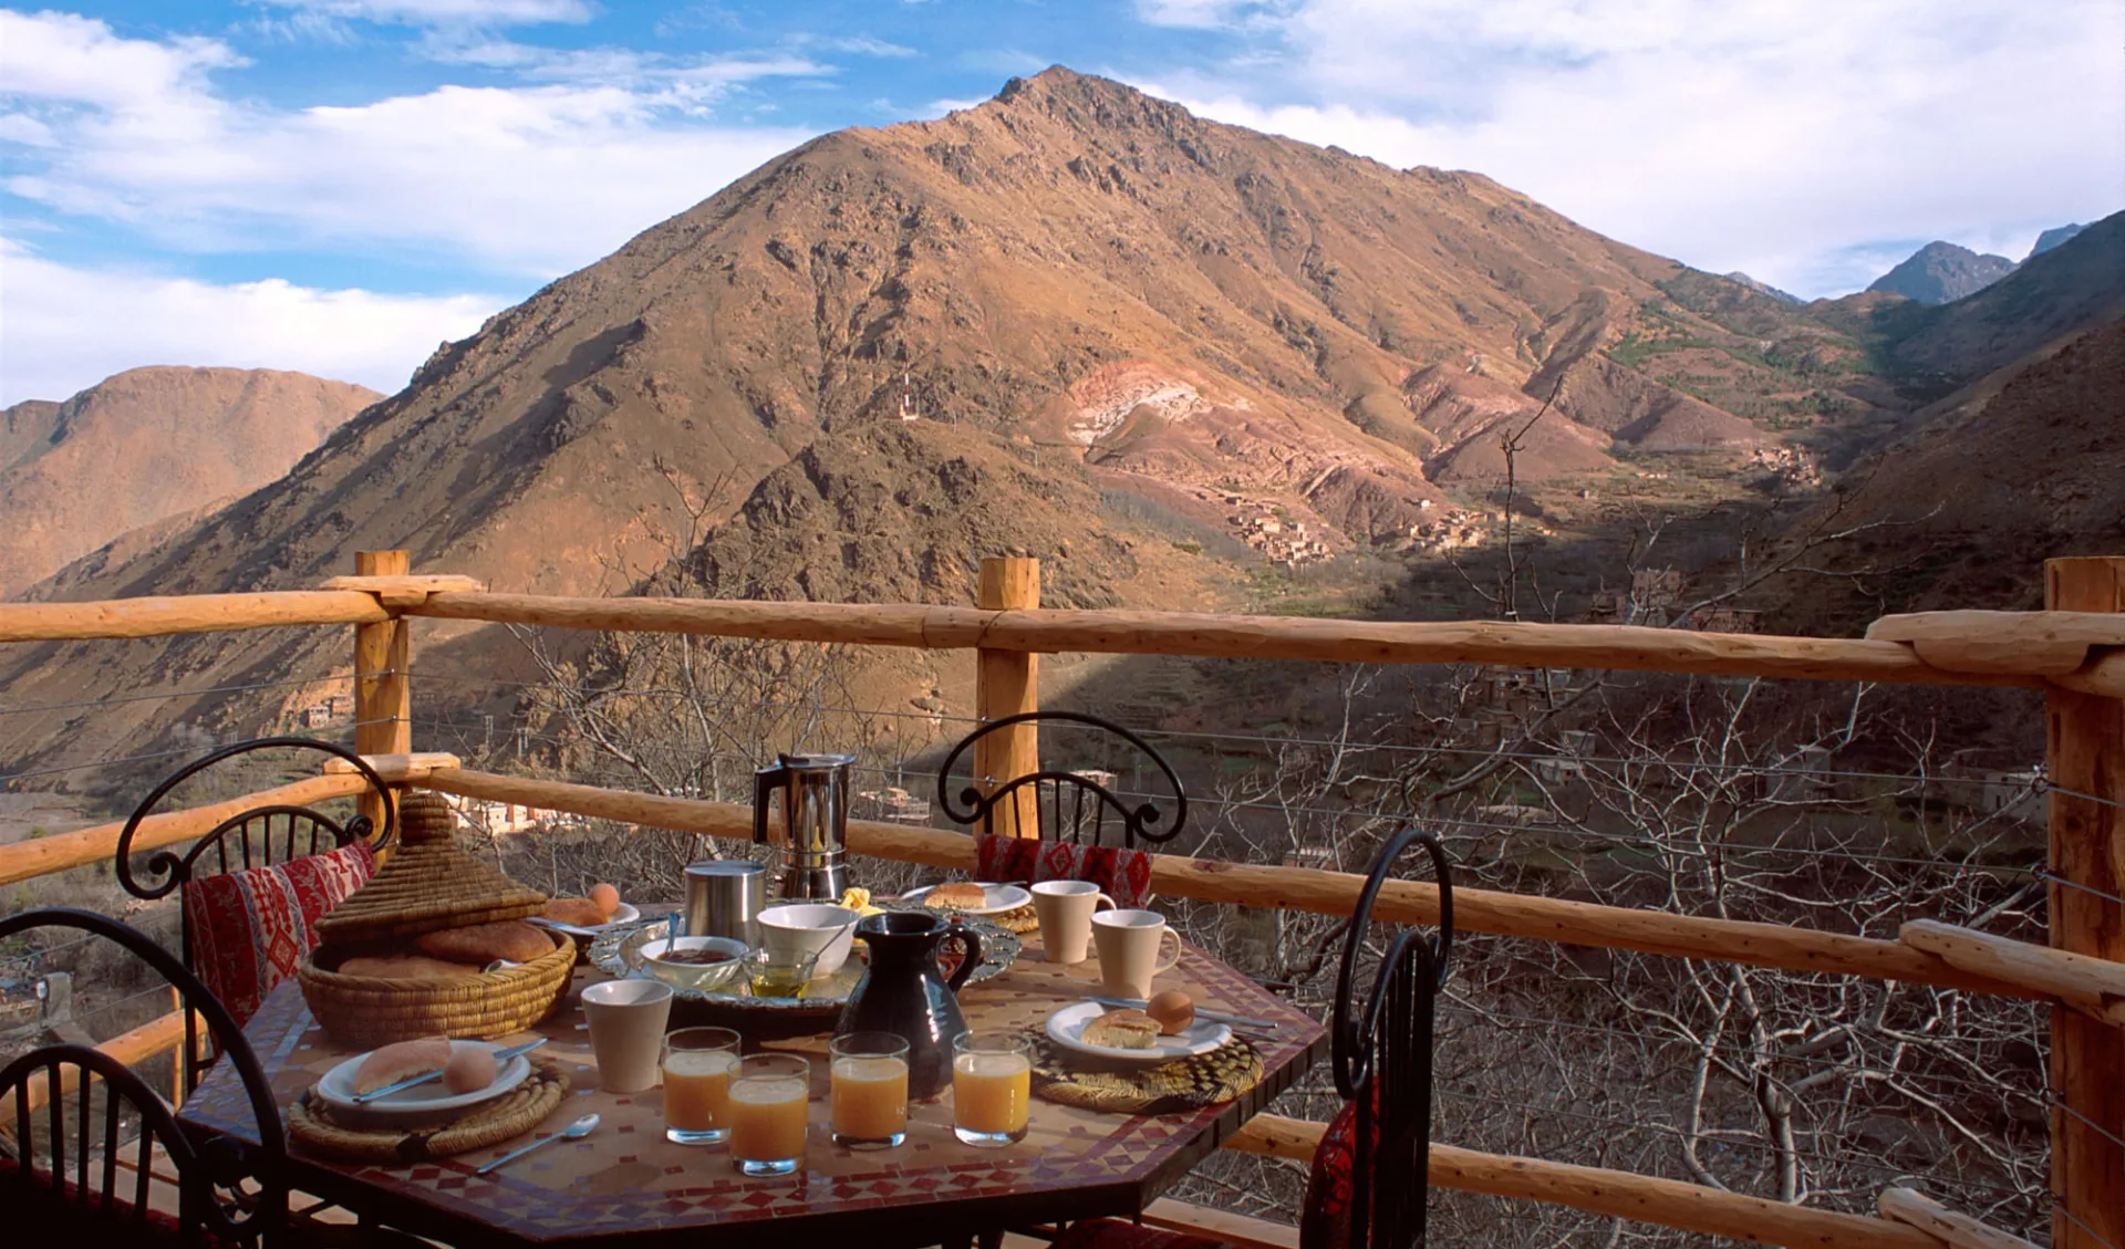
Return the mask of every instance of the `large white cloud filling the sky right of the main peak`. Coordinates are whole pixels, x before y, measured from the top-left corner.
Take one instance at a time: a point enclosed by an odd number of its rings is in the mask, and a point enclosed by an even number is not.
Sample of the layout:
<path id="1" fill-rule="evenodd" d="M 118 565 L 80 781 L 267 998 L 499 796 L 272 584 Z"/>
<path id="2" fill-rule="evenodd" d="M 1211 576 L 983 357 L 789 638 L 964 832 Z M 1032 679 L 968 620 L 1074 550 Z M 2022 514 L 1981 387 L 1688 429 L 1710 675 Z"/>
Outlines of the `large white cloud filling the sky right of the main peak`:
<path id="1" fill-rule="evenodd" d="M 2114 0 L 2051 0 L 2042 19 L 2023 0 L 1143 13 L 1258 34 L 1243 68 L 1150 85 L 1209 117 L 1477 170 L 1624 242 L 1804 295 L 1866 285 L 1891 242 L 2019 257 L 2044 225 L 2125 206 Z"/>

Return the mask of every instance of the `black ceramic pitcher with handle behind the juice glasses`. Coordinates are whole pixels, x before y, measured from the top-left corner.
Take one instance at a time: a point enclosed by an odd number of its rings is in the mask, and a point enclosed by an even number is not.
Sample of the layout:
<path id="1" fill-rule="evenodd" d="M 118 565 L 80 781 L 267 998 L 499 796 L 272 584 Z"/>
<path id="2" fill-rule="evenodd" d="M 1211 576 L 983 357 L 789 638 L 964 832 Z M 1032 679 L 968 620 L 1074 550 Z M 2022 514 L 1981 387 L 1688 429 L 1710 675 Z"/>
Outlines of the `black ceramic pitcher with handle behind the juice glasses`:
<path id="1" fill-rule="evenodd" d="M 965 926 L 929 911 L 882 911 L 856 924 L 871 966 L 848 994 L 835 1037 L 895 1032 L 907 1041 L 907 1096 L 933 1098 L 952 1083 L 952 1039 L 967 1030 L 958 986 L 982 962 L 982 941 Z M 967 943 L 967 956 L 946 979 L 937 947 L 946 937 Z"/>

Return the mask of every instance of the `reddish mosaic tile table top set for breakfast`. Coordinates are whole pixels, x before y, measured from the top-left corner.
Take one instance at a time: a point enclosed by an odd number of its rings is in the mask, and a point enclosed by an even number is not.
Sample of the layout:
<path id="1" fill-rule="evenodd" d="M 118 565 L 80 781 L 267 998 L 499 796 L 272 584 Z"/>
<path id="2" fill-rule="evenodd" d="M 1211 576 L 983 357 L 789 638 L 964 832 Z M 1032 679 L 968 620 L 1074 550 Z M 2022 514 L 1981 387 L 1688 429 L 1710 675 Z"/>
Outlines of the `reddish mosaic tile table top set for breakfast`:
<path id="1" fill-rule="evenodd" d="M 582 1141 L 561 1141 L 474 1175 L 482 1162 L 531 1141 L 416 1166 L 332 1162 L 295 1153 L 291 1183 L 363 1217 L 453 1245 L 824 1245 L 848 1249 L 939 1245 L 984 1230 L 1096 1215 L 1135 1215 L 1218 1147 L 1273 1096 L 1290 1088 L 1324 1051 L 1320 1024 L 1294 1011 L 1224 962 L 1184 945 L 1158 988 L 1184 988 L 1198 1005 L 1277 1020 L 1273 1041 L 1256 1041 L 1266 1077 L 1247 1096 L 1186 1115 L 1103 1115 L 1033 1100 L 1020 1145 L 973 1149 L 952 1134 L 950 1094 L 910 1107 L 910 1141 L 899 1149 L 856 1153 L 827 1139 L 824 1037 L 771 1043 L 816 1051 L 810 1158 L 784 1179 L 746 1179 L 729 1151 L 672 1145 L 663 1102 L 648 1094 L 597 1090 L 589 1034 L 576 990 L 604 979 L 578 969 L 570 998 L 538 1032 L 544 1054 L 574 1068 L 574 1096 L 540 1126 L 555 1132 L 597 1111 L 604 1124 Z M 971 1028 L 1037 1026 L 1060 1005 L 1096 992 L 1099 962 L 1056 966 L 1039 958 L 1039 937 L 1003 975 L 967 986 L 960 1005 Z M 246 1028 L 283 1107 L 351 1051 L 310 1020 L 295 983 L 283 983 Z M 523 1032 L 508 1041 L 527 1041 Z M 217 1071 L 185 1105 L 193 1128 L 255 1141 L 234 1079 Z"/>

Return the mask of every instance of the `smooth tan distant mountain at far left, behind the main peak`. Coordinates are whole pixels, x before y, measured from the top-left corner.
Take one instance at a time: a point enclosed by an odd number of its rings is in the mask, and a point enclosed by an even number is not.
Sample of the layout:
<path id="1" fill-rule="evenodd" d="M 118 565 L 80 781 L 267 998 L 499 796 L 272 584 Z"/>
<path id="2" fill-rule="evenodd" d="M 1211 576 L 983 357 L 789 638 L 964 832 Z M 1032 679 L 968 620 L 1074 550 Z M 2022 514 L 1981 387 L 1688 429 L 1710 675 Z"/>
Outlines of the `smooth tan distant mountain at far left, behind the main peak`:
<path id="1" fill-rule="evenodd" d="M 308 374 L 142 367 L 15 404 L 0 412 L 0 595 L 280 478 L 380 397 Z"/>

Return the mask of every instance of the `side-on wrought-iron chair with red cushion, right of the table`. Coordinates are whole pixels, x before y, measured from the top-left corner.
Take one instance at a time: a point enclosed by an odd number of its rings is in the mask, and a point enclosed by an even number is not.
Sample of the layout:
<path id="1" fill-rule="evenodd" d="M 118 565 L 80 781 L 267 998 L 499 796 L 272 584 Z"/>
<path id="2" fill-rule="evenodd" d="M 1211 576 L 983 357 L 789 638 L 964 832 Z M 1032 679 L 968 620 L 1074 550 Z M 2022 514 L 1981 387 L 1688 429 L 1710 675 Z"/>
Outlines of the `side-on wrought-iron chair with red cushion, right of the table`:
<path id="1" fill-rule="evenodd" d="M 1381 886 L 1409 848 L 1422 845 L 1439 877 L 1439 928 L 1388 941 L 1360 998 L 1360 964 Z M 1300 1249 L 1422 1249 L 1430 1194 L 1432 1024 L 1454 954 L 1454 875 L 1445 850 L 1426 833 L 1400 828 L 1366 873 L 1343 935 L 1330 1049 L 1343 1109 L 1313 1153 Z M 1056 1249 L 1205 1249 L 1216 1241 L 1118 1219 L 1073 1224 Z"/>

